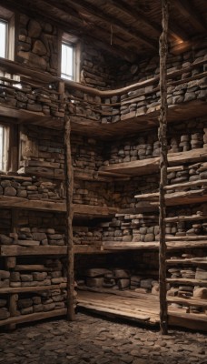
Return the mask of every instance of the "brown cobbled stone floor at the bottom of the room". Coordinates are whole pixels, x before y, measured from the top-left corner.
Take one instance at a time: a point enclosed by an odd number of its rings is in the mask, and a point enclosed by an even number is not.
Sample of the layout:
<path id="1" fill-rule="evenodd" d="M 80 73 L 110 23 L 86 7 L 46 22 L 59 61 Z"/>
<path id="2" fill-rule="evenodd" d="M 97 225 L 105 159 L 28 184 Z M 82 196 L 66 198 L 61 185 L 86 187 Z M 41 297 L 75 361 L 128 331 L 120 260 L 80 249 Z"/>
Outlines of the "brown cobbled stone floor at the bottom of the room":
<path id="1" fill-rule="evenodd" d="M 36 323 L 0 332 L 4 364 L 207 364 L 207 336 L 196 332 L 143 329 L 82 313 L 76 321 Z"/>

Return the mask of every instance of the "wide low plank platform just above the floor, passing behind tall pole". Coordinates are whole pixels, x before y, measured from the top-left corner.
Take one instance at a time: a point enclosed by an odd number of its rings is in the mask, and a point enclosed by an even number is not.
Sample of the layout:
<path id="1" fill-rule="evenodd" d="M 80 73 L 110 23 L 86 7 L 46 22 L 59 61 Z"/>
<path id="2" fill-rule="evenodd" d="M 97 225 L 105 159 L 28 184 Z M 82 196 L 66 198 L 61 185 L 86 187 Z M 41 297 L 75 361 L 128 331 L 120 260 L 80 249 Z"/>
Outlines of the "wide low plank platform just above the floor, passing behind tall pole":
<path id="1" fill-rule="evenodd" d="M 144 325 L 159 323 L 159 298 L 152 294 L 138 293 L 132 290 L 113 291 L 107 288 L 87 288 L 78 290 L 77 307 L 94 311 L 98 314 L 134 320 Z M 205 314 L 186 313 L 184 308 L 168 307 L 170 326 L 206 331 Z"/>

